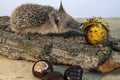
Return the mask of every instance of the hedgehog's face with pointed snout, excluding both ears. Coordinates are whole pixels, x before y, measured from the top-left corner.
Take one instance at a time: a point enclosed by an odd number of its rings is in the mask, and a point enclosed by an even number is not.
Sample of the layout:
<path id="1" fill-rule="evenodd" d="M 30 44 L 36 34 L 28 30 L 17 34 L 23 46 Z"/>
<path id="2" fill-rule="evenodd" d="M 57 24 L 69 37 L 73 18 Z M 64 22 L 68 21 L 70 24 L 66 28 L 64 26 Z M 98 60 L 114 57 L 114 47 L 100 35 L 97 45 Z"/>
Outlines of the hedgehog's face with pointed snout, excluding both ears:
<path id="1" fill-rule="evenodd" d="M 60 13 L 59 16 L 59 32 L 80 31 L 81 23 L 75 21 L 66 12 Z"/>

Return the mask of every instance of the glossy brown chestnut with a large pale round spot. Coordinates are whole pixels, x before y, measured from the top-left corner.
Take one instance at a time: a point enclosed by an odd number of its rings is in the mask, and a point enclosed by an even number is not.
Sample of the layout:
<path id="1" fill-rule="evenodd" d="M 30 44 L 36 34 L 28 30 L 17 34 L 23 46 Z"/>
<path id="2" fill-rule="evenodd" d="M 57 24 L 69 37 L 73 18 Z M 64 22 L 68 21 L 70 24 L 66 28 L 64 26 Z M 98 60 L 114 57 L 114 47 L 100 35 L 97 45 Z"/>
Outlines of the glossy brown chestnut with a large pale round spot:
<path id="1" fill-rule="evenodd" d="M 42 78 L 51 71 L 53 71 L 53 66 L 50 62 L 46 60 L 39 60 L 35 62 L 32 67 L 32 73 L 37 78 Z"/>

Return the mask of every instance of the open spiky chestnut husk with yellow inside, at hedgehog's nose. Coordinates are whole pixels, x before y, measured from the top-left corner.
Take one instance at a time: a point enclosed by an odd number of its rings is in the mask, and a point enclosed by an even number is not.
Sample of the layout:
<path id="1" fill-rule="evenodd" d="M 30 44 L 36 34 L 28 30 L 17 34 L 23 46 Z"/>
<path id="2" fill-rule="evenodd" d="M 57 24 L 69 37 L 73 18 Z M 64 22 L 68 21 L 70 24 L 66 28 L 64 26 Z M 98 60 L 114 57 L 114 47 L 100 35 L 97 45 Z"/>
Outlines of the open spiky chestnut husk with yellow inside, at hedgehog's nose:
<path id="1" fill-rule="evenodd" d="M 103 44 L 108 40 L 109 25 L 101 17 L 87 19 L 82 30 L 89 44 Z"/>

